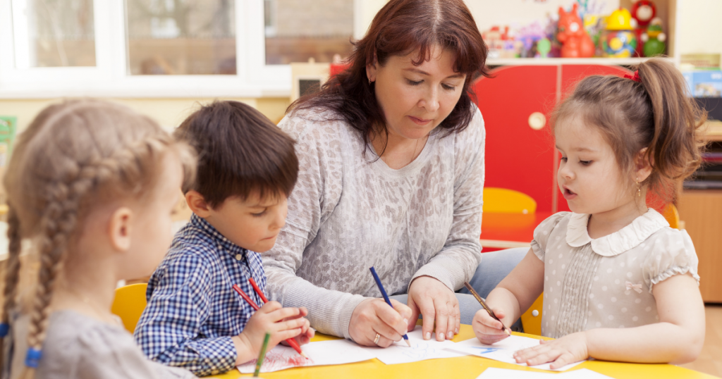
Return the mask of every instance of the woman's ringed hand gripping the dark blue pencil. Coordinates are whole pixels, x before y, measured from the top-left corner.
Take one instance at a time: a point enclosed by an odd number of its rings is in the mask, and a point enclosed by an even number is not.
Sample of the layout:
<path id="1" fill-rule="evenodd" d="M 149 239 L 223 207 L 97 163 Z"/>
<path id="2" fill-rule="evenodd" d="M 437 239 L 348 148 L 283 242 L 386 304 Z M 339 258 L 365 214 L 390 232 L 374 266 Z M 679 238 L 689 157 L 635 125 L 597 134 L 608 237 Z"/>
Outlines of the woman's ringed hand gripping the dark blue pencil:
<path id="1" fill-rule="evenodd" d="M 391 300 L 393 309 L 382 299 L 366 299 L 359 303 L 351 315 L 349 334 L 357 344 L 363 346 L 389 347 L 394 341 L 401 341 L 409 327 L 411 308 Z M 415 321 L 415 320 L 414 320 Z M 373 340 L 379 334 L 378 344 Z"/>

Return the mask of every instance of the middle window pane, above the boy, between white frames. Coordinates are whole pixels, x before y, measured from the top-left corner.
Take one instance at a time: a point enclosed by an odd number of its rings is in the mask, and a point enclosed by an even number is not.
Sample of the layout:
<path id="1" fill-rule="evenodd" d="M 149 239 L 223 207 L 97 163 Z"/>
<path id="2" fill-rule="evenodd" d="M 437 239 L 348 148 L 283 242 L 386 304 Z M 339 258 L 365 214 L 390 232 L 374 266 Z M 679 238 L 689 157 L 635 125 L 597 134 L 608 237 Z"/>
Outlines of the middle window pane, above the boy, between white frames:
<path id="1" fill-rule="evenodd" d="M 235 1 L 126 0 L 133 75 L 236 74 Z"/>

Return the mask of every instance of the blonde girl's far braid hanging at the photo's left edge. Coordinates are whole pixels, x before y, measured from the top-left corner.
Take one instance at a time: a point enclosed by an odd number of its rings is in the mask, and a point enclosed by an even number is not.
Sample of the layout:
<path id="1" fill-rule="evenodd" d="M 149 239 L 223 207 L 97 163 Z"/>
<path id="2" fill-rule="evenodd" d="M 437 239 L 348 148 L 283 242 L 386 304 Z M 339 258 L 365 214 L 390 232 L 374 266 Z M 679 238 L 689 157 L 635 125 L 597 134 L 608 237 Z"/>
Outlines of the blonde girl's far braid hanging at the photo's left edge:
<path id="1" fill-rule="evenodd" d="M 20 222 L 12 206 L 7 214 L 8 258 L 5 267 L 4 304 L 2 308 L 2 327 L 5 335 L 0 337 L 0 372 L 4 368 L 4 336 L 9 333 L 10 311 L 15 308 L 15 292 L 20 276 Z"/>

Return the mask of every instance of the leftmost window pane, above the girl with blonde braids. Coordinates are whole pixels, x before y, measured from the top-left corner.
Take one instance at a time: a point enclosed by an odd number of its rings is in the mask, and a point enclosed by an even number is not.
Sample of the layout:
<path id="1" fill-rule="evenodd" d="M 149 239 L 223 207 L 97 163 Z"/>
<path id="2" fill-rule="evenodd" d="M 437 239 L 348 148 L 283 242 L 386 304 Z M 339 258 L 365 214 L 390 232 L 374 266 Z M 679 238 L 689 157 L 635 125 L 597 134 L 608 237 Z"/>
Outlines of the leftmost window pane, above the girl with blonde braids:
<path id="1" fill-rule="evenodd" d="M 92 0 L 12 0 L 15 66 L 95 66 Z"/>

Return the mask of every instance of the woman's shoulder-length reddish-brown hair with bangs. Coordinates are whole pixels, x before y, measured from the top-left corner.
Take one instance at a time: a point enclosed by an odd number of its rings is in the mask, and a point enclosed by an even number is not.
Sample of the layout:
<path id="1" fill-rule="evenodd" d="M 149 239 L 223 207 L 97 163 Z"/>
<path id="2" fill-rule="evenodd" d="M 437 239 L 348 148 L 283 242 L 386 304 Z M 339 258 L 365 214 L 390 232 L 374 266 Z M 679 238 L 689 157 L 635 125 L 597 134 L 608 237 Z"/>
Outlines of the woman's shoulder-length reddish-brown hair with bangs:
<path id="1" fill-rule="evenodd" d="M 391 0 L 376 14 L 364 38 L 356 41 L 349 68 L 329 79 L 321 92 L 305 95 L 289 107 L 291 110 L 331 110 L 334 116 L 360 131 L 366 146 L 375 133 L 386 134 L 386 120 L 376 101 L 373 83 L 366 77 L 366 66 L 383 66 L 391 56 L 418 51 L 414 65 L 430 59 L 434 45 L 453 52 L 453 70 L 466 74 L 461 98 L 439 125 L 447 134 L 469 126 L 471 112 L 469 90 L 479 75 L 488 77 L 485 66 L 487 46 L 474 17 L 462 0 Z M 379 155 L 381 152 L 379 152 Z"/>

